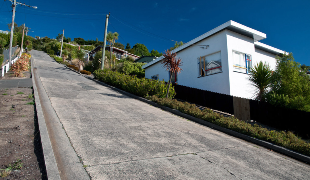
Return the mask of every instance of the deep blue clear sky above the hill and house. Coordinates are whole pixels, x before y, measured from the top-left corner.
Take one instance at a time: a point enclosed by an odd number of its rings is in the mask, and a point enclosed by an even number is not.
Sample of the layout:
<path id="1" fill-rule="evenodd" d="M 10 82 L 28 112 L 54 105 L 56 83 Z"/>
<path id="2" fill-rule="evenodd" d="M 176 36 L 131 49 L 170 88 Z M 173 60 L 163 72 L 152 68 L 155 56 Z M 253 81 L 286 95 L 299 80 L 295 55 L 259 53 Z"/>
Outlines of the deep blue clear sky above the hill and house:
<path id="1" fill-rule="evenodd" d="M 96 37 L 103 41 L 105 15 L 111 12 L 108 31 L 120 34 L 118 42 L 131 47 L 145 44 L 149 51 L 163 52 L 175 41 L 188 42 L 233 20 L 267 34 L 261 43 L 293 52 L 295 61 L 310 65 L 309 0 L 217 0 L 217 1 L 42 1 L 19 0 L 15 22 L 34 32 L 29 36 Z M 0 30 L 8 30 L 10 1 L 0 1 Z"/>

